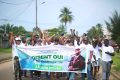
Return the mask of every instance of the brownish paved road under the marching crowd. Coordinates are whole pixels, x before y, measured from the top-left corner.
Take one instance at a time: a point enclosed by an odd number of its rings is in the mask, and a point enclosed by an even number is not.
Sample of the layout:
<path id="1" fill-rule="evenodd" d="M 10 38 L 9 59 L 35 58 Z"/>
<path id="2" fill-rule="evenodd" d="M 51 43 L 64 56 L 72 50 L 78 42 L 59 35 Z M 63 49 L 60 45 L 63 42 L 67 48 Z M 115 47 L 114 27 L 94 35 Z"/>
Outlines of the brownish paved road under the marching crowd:
<path id="1" fill-rule="evenodd" d="M 100 71 L 100 73 L 101 73 L 101 71 Z M 0 80 L 14 80 L 12 61 L 0 64 Z M 28 80 L 28 79 L 24 79 L 24 80 Z M 43 79 L 43 80 L 45 80 L 45 79 Z M 98 79 L 98 80 L 100 80 L 100 79 Z M 117 79 L 115 79 L 111 75 L 110 80 L 117 80 Z"/>

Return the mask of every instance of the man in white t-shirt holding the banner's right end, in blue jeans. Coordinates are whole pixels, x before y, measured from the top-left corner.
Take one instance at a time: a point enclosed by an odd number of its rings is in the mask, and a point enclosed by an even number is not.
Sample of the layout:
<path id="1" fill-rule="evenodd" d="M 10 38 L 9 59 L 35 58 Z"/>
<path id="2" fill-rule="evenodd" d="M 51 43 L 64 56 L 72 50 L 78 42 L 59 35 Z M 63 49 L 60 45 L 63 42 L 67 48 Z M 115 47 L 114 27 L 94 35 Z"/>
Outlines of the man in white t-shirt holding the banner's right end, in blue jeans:
<path id="1" fill-rule="evenodd" d="M 92 57 L 95 58 L 95 56 L 93 56 L 93 46 L 91 44 L 89 44 L 88 42 L 88 38 L 85 37 L 83 38 L 83 42 L 82 44 L 80 44 L 80 49 L 86 49 L 86 59 L 87 59 L 87 78 L 88 80 L 92 80 L 92 64 L 91 64 L 91 59 Z M 81 54 L 82 55 L 82 54 Z M 95 58 L 96 61 L 96 58 Z M 81 80 L 85 80 L 85 74 L 82 73 L 81 74 Z"/>

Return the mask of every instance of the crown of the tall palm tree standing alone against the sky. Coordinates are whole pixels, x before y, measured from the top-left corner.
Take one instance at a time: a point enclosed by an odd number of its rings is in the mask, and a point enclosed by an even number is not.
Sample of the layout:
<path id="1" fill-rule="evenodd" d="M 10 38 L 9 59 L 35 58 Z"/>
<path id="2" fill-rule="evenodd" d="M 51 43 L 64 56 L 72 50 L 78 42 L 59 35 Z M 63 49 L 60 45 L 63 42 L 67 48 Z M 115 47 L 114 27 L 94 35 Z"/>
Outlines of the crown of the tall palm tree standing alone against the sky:
<path id="1" fill-rule="evenodd" d="M 60 22 L 66 27 L 67 23 L 71 23 L 73 20 L 73 15 L 72 12 L 67 8 L 64 7 L 63 9 L 61 9 L 61 14 L 59 15 L 60 18 Z"/>

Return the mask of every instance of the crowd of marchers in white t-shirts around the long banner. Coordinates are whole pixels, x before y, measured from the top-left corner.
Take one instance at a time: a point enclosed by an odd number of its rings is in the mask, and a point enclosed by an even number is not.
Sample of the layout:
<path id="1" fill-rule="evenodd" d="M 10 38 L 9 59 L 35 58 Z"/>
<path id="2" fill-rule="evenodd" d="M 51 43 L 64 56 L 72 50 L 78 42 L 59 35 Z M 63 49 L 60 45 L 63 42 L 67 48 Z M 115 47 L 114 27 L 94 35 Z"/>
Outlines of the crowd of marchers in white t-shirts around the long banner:
<path id="1" fill-rule="evenodd" d="M 69 47 L 75 47 L 75 57 L 80 55 L 80 48 L 85 48 L 87 50 L 87 73 L 81 73 L 80 80 L 98 80 L 96 75 L 100 71 L 102 66 L 102 80 L 109 80 L 111 65 L 113 63 L 112 56 L 114 56 L 114 49 L 109 45 L 109 39 L 95 37 L 91 41 L 86 34 L 79 37 L 77 35 L 64 35 L 60 36 L 49 36 L 47 32 L 43 32 L 41 36 L 38 34 L 31 33 L 29 36 L 18 35 L 14 36 L 11 32 L 9 34 L 10 44 L 12 47 L 16 46 L 45 46 L 45 45 L 64 45 Z M 14 48 L 13 48 L 14 49 Z M 30 79 L 33 80 L 33 75 L 37 76 L 40 79 L 41 71 L 26 71 L 21 70 L 18 54 L 14 53 L 14 70 L 15 70 L 15 80 L 19 77 L 19 80 L 22 80 L 22 77 L 28 76 L 30 73 Z M 80 64 L 81 62 L 78 62 Z M 73 63 L 74 64 L 74 60 Z M 70 64 L 70 69 L 72 66 Z M 82 64 L 80 64 L 82 65 Z M 83 66 L 83 65 L 82 65 Z M 19 72 L 19 75 L 17 73 Z M 74 72 L 46 72 L 46 78 L 48 80 L 60 80 L 60 77 L 65 77 L 66 80 L 78 80 L 76 79 L 76 73 Z"/>

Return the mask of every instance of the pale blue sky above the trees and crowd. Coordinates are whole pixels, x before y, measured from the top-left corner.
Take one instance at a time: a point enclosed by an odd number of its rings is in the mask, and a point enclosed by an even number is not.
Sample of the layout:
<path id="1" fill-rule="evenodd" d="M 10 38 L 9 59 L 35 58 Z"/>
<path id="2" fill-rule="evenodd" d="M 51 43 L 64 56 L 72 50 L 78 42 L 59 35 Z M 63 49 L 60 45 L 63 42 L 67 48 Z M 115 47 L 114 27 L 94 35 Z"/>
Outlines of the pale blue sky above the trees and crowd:
<path id="1" fill-rule="evenodd" d="M 69 8 L 74 18 L 67 25 L 67 31 L 75 29 L 81 35 L 97 23 L 105 27 L 105 21 L 109 21 L 115 10 L 120 13 L 120 0 L 38 0 L 38 27 L 41 30 L 57 28 L 61 24 L 59 15 L 63 7 Z M 22 25 L 32 31 L 35 0 L 0 0 L 0 25 L 6 23 Z"/>

